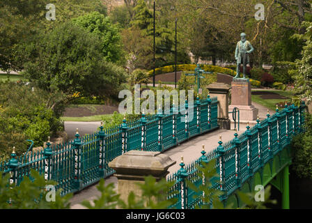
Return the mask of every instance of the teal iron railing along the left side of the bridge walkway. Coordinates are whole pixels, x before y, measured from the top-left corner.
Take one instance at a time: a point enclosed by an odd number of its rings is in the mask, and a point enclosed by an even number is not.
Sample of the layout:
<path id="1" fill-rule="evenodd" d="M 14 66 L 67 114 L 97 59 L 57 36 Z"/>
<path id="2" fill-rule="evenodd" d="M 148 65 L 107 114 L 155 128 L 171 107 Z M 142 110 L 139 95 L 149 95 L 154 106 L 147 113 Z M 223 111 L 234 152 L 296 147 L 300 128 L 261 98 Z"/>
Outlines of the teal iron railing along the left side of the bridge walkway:
<path id="1" fill-rule="evenodd" d="M 203 132 L 219 128 L 217 125 L 217 98 L 196 100 L 194 106 L 185 102 L 185 109 L 169 114 L 158 112 L 137 121 L 126 122 L 115 128 L 100 127 L 94 134 L 80 137 L 78 131 L 75 139 L 65 144 L 47 147 L 42 151 L 29 151 L 17 157 L 15 152 L 8 162 L 0 163 L 0 171 L 10 173 L 10 183 L 19 185 L 24 176 L 29 176 L 30 169 L 36 169 L 45 175 L 46 180 L 58 183 L 61 194 L 77 192 L 84 187 L 114 174 L 109 162 L 127 151 L 166 151 Z M 188 109 L 194 111 L 193 121 Z M 164 113 L 164 114 L 163 114 Z M 184 116 L 185 120 L 181 121 Z"/>

